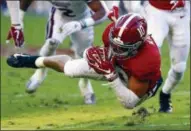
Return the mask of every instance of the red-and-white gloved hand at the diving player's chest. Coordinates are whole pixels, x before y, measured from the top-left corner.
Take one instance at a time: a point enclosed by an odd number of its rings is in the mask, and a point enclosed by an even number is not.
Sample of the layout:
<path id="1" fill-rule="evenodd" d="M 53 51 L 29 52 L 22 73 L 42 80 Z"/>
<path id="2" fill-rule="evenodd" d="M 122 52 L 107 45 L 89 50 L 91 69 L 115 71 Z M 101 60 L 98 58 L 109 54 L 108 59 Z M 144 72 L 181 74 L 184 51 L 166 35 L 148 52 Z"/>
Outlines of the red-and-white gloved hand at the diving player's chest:
<path id="1" fill-rule="evenodd" d="M 107 49 L 100 47 L 91 47 L 86 51 L 86 58 L 91 68 L 98 74 L 102 74 L 108 81 L 117 78 L 117 73 L 113 63 L 107 59 Z"/>

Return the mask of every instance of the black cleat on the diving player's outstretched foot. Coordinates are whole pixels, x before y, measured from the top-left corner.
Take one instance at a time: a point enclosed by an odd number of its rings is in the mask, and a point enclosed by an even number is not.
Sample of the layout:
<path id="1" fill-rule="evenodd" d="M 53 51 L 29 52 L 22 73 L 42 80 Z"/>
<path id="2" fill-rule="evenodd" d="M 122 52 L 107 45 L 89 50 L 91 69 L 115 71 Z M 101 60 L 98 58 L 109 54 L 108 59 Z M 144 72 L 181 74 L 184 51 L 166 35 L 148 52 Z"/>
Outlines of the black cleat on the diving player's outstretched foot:
<path id="1" fill-rule="evenodd" d="M 14 68 L 38 68 L 35 61 L 39 56 L 28 54 L 13 54 L 7 58 L 7 64 Z"/>

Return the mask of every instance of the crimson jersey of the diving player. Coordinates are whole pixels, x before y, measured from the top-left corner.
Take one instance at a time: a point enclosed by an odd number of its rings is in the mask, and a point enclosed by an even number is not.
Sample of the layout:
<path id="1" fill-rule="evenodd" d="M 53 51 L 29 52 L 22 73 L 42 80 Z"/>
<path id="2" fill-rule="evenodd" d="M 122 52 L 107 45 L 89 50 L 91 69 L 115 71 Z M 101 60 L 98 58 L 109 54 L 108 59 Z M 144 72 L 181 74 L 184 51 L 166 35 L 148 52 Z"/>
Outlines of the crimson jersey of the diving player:
<path id="1" fill-rule="evenodd" d="M 109 46 L 109 31 L 114 23 L 105 29 L 102 40 L 106 47 Z M 136 56 L 128 59 L 117 59 L 117 66 L 123 70 L 128 77 L 134 76 L 138 80 L 148 80 L 149 88 L 153 88 L 161 78 L 161 59 L 158 47 L 151 36 L 148 36 L 140 47 Z"/>

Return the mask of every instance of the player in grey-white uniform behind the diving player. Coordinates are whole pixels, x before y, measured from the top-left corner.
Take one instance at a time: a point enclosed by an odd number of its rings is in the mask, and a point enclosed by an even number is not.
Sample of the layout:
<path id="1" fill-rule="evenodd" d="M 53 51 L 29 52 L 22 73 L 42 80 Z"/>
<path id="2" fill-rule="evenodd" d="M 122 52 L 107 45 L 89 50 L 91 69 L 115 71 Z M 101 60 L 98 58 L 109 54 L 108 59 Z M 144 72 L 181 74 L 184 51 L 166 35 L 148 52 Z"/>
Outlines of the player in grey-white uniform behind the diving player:
<path id="1" fill-rule="evenodd" d="M 21 0 L 22 1 L 22 0 Z M 98 0 L 56 1 L 51 0 L 52 9 L 46 28 L 46 41 L 39 55 L 50 56 L 56 54 L 56 49 L 69 36 L 73 44 L 75 58 L 82 57 L 83 51 L 93 45 L 93 26 L 107 19 L 106 11 Z M 22 2 L 26 11 L 31 0 Z M 21 20 L 24 12 L 21 11 Z M 47 69 L 37 69 L 27 83 L 26 91 L 33 93 L 43 82 Z M 94 104 L 95 96 L 88 79 L 79 80 L 79 88 L 86 104 Z"/>

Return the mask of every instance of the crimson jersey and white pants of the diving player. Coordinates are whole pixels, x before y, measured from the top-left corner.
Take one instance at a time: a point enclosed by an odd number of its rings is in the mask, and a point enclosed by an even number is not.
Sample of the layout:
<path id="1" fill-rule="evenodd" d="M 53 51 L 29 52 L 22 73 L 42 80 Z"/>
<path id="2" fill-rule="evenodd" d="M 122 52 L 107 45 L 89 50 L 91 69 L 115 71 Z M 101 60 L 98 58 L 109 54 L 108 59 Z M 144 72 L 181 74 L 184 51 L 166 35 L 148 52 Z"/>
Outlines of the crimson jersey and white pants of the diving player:
<path id="1" fill-rule="evenodd" d="M 113 25 L 110 24 L 102 35 L 104 45 L 109 45 L 109 30 Z M 149 58 L 149 59 L 148 59 Z M 136 56 L 121 60 L 117 59 L 116 70 L 124 84 L 127 83 L 128 77 L 134 76 L 139 80 L 148 80 L 150 89 L 156 86 L 156 83 L 161 78 L 160 72 L 160 53 L 153 41 L 148 36 L 143 46 Z M 97 74 L 87 63 L 85 58 L 71 60 L 65 64 L 64 73 L 70 77 L 88 77 L 95 79 L 105 79 L 101 74 Z"/>

